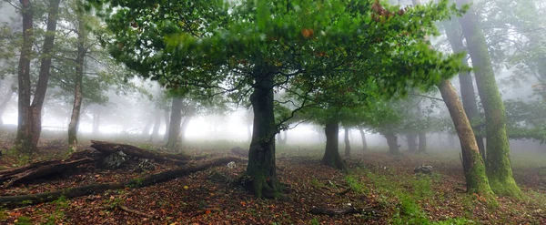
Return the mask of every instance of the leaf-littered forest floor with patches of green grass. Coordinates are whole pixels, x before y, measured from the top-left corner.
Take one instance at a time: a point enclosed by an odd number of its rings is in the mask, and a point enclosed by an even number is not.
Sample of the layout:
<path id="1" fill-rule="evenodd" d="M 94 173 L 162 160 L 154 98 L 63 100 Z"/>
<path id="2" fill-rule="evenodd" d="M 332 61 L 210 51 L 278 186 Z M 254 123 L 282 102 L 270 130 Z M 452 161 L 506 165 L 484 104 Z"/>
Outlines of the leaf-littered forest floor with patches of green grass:
<path id="1" fill-rule="evenodd" d="M 43 143 L 40 158 L 62 158 L 62 142 Z M 5 145 L 5 144 L 3 144 Z M 1 145 L 0 145 L 1 147 Z M 6 146 L 4 146 L 6 148 Z M 225 150 L 190 149 L 188 154 L 228 156 Z M 245 163 L 235 169 L 211 168 L 139 189 L 116 189 L 104 193 L 57 199 L 18 209 L 0 209 L 1 224 L 546 224 L 546 156 L 522 155 L 512 159 L 514 176 L 524 190 L 523 199 L 499 198 L 490 207 L 479 196 L 464 193 L 458 153 L 361 152 L 353 149 L 342 172 L 319 164 L 321 150 L 278 152 L 278 178 L 288 193 L 282 200 L 256 199 L 237 185 L 215 178 L 237 179 Z M 6 155 L 0 169 L 23 164 Z M 192 162 L 192 163 L 198 163 Z M 432 175 L 415 175 L 421 164 Z M 79 169 L 27 185 L 0 189 L 0 196 L 34 194 L 92 183 L 135 179 L 153 171 Z M 345 208 L 365 211 L 339 216 L 314 215 L 313 208 Z"/>

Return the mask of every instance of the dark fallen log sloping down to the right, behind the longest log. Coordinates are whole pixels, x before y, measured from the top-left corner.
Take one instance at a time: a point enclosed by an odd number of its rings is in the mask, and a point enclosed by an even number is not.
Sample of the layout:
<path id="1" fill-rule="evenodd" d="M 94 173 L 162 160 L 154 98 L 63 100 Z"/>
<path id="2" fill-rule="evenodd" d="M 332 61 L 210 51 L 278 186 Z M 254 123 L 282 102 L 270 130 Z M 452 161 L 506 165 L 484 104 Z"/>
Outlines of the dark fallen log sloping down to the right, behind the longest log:
<path id="1" fill-rule="evenodd" d="M 132 145 L 118 144 L 106 141 L 91 140 L 91 148 L 95 148 L 97 151 L 110 155 L 116 151 L 123 151 L 127 156 L 142 158 L 142 159 L 154 159 L 158 162 L 175 162 L 182 163 L 185 160 L 191 159 L 188 156 L 167 154 L 149 151 L 143 148 L 137 148 Z"/>

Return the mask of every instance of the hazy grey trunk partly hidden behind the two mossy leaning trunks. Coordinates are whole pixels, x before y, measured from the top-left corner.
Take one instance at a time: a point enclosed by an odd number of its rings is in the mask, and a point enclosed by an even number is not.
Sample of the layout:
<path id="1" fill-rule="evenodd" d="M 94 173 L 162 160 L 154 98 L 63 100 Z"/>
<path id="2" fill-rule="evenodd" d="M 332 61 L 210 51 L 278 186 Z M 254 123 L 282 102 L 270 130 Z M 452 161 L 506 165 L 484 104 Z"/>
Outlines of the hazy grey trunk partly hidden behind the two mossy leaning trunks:
<path id="1" fill-rule="evenodd" d="M 449 21 L 445 24 L 446 35 L 450 42 L 451 48 L 454 53 L 460 53 L 466 51 L 462 42 L 462 34 L 460 30 L 460 24 L 457 21 Z M 462 66 L 469 66 L 469 61 L 466 57 L 462 58 Z M 479 118 L 478 103 L 476 102 L 476 93 L 474 92 L 474 82 L 472 76 L 468 72 L 461 71 L 459 73 L 460 83 L 460 97 L 462 98 L 462 107 L 467 117 L 470 120 L 470 124 L 473 119 Z M 476 135 L 476 142 L 478 148 L 480 148 L 481 158 L 485 161 L 485 146 L 483 144 L 483 137 Z"/>

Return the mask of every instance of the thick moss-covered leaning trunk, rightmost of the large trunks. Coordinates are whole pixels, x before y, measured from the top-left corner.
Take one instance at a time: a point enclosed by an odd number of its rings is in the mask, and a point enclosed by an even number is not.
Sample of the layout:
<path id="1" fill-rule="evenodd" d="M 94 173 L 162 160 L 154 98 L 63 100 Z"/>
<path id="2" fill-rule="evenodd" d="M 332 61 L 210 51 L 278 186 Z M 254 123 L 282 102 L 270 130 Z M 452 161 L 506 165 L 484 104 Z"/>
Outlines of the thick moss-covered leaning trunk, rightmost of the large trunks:
<path id="1" fill-rule="evenodd" d="M 457 3 L 464 5 L 469 2 L 458 0 Z M 487 175 L 495 194 L 521 197 L 521 189 L 512 176 L 506 111 L 491 66 L 487 43 L 478 22 L 473 7 L 460 18 L 462 34 L 467 40 L 472 66 L 475 68 L 478 93 L 485 111 L 486 138 L 489 140 L 486 146 Z"/>

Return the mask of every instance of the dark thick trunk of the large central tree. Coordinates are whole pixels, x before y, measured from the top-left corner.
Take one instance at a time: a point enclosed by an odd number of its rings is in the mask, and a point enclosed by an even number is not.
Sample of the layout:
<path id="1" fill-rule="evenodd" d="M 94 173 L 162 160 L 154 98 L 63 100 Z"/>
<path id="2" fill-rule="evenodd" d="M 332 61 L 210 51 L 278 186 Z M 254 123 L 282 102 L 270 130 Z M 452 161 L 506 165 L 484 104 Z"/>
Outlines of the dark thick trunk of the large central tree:
<path id="1" fill-rule="evenodd" d="M 277 198 L 280 184 L 275 166 L 277 127 L 273 113 L 274 74 L 268 66 L 256 66 L 253 73 L 255 83 L 250 103 L 254 110 L 254 121 L 247 174 L 258 198 Z"/>

